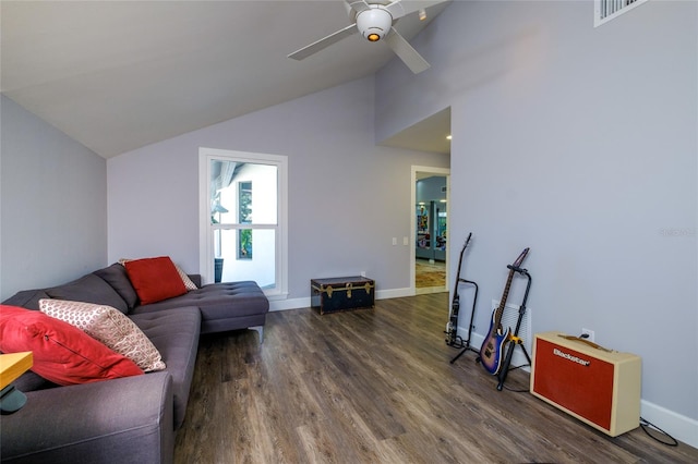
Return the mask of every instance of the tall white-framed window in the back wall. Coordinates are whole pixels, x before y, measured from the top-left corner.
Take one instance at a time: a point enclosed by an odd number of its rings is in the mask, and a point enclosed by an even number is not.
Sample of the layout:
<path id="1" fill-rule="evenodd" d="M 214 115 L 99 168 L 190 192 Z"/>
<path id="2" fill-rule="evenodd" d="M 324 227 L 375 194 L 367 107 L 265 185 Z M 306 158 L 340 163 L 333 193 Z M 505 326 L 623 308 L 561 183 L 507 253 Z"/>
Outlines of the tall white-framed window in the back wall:
<path id="1" fill-rule="evenodd" d="M 287 292 L 287 158 L 200 149 L 201 264 L 206 282 L 254 280 Z"/>

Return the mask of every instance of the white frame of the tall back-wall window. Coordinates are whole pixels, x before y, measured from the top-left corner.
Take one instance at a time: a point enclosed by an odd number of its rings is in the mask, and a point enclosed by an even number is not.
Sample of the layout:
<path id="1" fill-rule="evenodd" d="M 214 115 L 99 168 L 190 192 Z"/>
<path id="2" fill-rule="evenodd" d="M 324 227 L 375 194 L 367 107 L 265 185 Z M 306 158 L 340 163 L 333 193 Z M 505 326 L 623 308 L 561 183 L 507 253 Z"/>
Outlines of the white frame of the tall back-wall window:
<path id="1" fill-rule="evenodd" d="M 277 167 L 277 223 L 243 225 L 248 229 L 273 229 L 276 231 L 276 288 L 266 289 L 264 293 L 269 300 L 285 300 L 288 296 L 288 157 L 218 148 L 198 148 L 198 269 L 204 283 L 214 281 L 214 233 L 210 223 L 208 190 L 210 161 L 214 159 Z"/>

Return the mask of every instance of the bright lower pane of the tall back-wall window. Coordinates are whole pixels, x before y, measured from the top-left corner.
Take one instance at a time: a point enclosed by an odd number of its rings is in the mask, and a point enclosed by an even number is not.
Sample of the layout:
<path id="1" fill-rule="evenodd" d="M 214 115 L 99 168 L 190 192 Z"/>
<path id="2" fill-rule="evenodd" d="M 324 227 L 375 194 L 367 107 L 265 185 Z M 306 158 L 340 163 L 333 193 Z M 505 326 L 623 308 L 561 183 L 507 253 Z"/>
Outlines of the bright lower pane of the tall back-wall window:
<path id="1" fill-rule="evenodd" d="M 222 282 L 254 280 L 263 289 L 276 285 L 275 230 L 229 229 L 213 232 L 216 252 L 219 252 L 216 258 L 222 259 Z M 249 234 L 251 241 L 243 243 L 240 240 L 243 234 Z M 241 257 L 241 244 L 248 254 L 242 254 L 244 257 Z"/>

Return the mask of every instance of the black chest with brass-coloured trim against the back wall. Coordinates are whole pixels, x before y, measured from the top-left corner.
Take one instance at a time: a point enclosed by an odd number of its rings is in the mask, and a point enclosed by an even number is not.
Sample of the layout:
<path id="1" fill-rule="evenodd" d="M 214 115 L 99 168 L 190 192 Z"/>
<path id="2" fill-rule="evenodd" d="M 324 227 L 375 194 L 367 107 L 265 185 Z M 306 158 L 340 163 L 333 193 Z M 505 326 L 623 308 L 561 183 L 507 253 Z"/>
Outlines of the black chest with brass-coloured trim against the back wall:
<path id="1" fill-rule="evenodd" d="M 365 277 L 312 279 L 311 305 L 320 314 L 337 313 L 375 305 L 375 282 Z"/>

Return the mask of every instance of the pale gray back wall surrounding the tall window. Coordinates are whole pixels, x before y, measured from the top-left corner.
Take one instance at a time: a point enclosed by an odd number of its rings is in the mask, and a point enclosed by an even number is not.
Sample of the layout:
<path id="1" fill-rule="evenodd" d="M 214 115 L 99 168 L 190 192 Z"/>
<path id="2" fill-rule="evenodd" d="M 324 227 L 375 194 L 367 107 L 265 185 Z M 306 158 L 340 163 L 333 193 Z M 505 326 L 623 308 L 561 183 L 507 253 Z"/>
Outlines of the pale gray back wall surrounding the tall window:
<path id="1" fill-rule="evenodd" d="M 448 157 L 375 146 L 373 102 L 373 78 L 359 80 L 109 159 L 109 260 L 166 254 L 200 271 L 203 146 L 288 156 L 289 298 L 361 271 L 409 289 L 409 246 L 392 237 L 410 236 L 411 166 Z"/>

